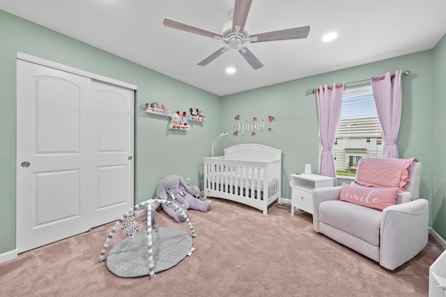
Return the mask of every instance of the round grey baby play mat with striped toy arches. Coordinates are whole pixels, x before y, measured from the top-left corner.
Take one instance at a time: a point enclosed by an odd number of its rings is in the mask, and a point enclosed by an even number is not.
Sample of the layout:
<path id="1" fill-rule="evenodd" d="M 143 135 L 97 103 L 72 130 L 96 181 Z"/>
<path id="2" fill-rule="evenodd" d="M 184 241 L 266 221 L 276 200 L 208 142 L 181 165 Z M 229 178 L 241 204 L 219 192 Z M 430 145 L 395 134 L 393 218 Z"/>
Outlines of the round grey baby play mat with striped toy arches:
<path id="1" fill-rule="evenodd" d="M 155 208 L 162 203 L 180 211 L 190 227 L 191 234 L 177 227 L 156 226 Z M 134 211 L 140 207 L 148 209 L 146 232 L 137 232 L 139 223 L 133 220 Z M 125 234 L 125 239 L 109 248 L 113 236 L 118 232 Z M 109 271 L 121 278 L 138 278 L 146 275 L 154 278 L 155 273 L 167 270 L 187 255 L 192 255 L 194 236 L 194 227 L 183 209 L 166 200 L 147 200 L 132 207 L 116 221 L 104 243 L 99 261 L 107 259 Z"/>

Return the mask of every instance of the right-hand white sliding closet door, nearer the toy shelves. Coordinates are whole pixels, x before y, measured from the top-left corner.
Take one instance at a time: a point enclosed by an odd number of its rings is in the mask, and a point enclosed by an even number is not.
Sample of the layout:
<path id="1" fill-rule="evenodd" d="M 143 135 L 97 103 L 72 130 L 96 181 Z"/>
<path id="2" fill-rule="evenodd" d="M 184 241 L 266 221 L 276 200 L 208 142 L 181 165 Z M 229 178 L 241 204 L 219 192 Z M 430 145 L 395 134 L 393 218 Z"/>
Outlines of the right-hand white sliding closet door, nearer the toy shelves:
<path id="1" fill-rule="evenodd" d="M 93 99 L 95 227 L 117 220 L 134 205 L 134 91 L 94 81 Z"/>

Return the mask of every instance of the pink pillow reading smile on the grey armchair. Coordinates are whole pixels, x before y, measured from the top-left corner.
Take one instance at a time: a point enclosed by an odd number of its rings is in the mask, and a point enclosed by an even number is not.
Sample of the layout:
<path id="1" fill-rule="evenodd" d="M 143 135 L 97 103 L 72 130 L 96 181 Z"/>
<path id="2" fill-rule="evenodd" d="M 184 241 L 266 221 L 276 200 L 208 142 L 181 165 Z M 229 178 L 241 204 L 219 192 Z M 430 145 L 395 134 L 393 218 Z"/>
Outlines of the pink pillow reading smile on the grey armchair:
<path id="1" fill-rule="evenodd" d="M 339 200 L 382 211 L 397 204 L 398 188 L 357 188 L 342 183 Z"/>

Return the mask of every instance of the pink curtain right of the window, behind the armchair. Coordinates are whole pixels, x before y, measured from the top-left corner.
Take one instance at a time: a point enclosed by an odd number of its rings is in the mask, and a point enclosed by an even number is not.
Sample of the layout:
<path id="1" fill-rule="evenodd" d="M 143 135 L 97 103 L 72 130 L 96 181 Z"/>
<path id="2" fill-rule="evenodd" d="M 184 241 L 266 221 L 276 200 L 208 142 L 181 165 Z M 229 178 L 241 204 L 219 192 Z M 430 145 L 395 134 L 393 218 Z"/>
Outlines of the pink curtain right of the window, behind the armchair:
<path id="1" fill-rule="evenodd" d="M 379 125 L 383 134 L 383 158 L 398 158 L 397 138 L 401 122 L 401 70 L 371 78 Z"/>

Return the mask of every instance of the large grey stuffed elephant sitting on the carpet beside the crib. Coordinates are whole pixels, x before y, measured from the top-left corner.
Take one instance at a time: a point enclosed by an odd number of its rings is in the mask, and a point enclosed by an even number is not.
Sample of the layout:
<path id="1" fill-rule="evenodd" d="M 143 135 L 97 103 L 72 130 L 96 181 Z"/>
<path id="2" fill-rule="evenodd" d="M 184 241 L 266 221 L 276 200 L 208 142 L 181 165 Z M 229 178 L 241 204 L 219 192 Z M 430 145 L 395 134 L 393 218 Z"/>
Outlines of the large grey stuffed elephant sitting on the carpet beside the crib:
<path id="1" fill-rule="evenodd" d="M 199 193 L 200 190 L 197 186 L 187 186 L 183 177 L 180 177 L 179 175 L 169 175 L 162 179 L 162 181 L 158 183 L 156 190 L 157 198 L 178 205 L 185 211 L 187 216 L 189 216 L 189 213 L 186 209 L 208 211 L 210 210 L 210 207 L 212 207 L 212 201 L 199 200 L 193 196 L 198 195 Z M 164 211 L 177 222 L 185 220 L 179 211 L 170 208 L 167 204 L 162 204 L 162 209 L 164 209 Z"/>

